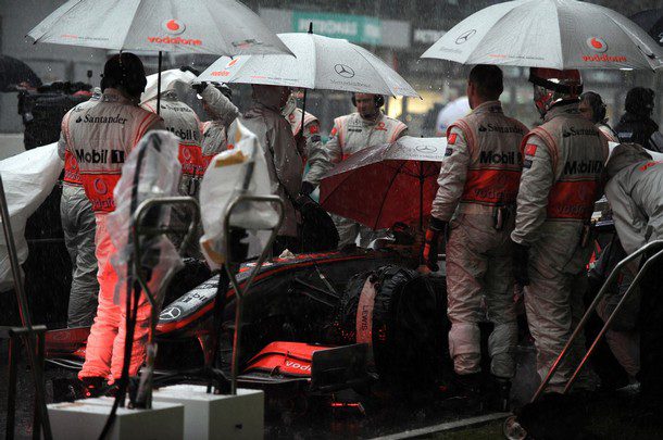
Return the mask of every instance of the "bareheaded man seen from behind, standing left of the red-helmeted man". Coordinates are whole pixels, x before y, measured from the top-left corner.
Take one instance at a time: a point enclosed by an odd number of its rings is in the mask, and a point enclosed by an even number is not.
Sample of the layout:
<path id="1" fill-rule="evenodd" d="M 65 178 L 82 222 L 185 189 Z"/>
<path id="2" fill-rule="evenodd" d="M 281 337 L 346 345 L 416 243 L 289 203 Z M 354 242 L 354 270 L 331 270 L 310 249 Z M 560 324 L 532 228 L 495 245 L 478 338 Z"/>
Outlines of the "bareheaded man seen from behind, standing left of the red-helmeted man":
<path id="1" fill-rule="evenodd" d="M 479 64 L 470 73 L 467 97 L 473 111 L 447 130 L 424 260 L 436 269 L 437 242 L 451 222 L 446 248 L 447 313 L 458 382 L 464 392 L 478 392 L 478 323 L 487 316 L 495 324 L 488 341 L 490 370 L 505 410 L 517 343 L 510 235 L 521 180 L 520 148 L 527 127 L 504 115 L 499 101 L 502 91 L 499 67 Z"/>

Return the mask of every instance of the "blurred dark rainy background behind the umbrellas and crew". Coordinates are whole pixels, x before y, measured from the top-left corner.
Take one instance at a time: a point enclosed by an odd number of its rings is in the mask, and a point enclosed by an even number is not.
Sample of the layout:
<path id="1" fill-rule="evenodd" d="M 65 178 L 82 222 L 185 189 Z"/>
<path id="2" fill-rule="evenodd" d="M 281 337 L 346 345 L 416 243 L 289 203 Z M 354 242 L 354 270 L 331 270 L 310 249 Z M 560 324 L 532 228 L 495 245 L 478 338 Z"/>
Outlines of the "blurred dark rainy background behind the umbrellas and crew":
<path id="1" fill-rule="evenodd" d="M 447 29 L 497 0 L 247 0 L 276 33 L 305 32 L 313 23 L 316 34 L 346 38 L 376 53 L 412 84 L 423 99 L 387 100 L 386 112 L 410 126 L 414 136 L 436 135 L 440 110 L 465 95 L 470 66 L 440 60 L 420 60 L 420 55 Z M 592 0 L 630 16 L 660 8 L 660 0 Z M 43 84 L 83 81 L 99 85 L 99 74 L 111 52 L 54 45 L 32 45 L 25 35 L 63 0 L 0 0 L 0 53 L 25 62 Z M 148 73 L 157 71 L 154 53 L 139 53 Z M 165 68 L 189 65 L 200 71 L 216 56 L 165 55 Z M 624 98 L 634 86 L 656 91 L 654 121 L 663 122 L 661 86 L 663 73 L 635 71 L 584 71 L 585 90 L 600 93 L 608 104 L 610 124 L 624 111 Z M 509 114 L 528 126 L 538 123 L 531 103 L 527 70 L 504 67 L 505 90 L 502 101 Z M 234 85 L 234 101 L 246 109 L 250 99 L 247 86 Z M 313 91 L 307 110 L 321 121 L 323 133 L 332 128 L 334 117 L 352 111 L 349 93 Z M 193 97 L 189 103 L 196 108 Z M 18 114 L 18 93 L 0 93 L 0 156 L 8 149 L 22 146 L 23 122 Z M 199 110 L 199 109 L 197 109 Z M 200 112 L 203 115 L 203 112 Z M 438 133 L 439 134 L 439 133 Z"/>

